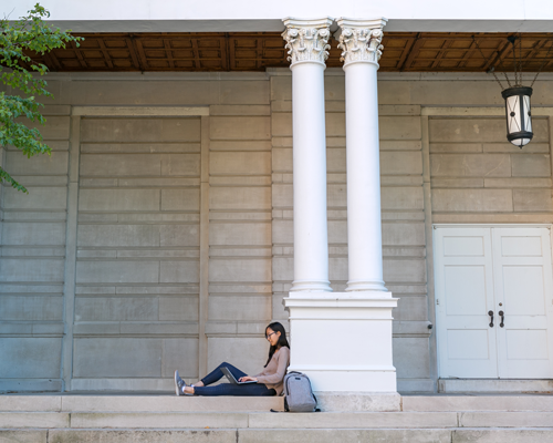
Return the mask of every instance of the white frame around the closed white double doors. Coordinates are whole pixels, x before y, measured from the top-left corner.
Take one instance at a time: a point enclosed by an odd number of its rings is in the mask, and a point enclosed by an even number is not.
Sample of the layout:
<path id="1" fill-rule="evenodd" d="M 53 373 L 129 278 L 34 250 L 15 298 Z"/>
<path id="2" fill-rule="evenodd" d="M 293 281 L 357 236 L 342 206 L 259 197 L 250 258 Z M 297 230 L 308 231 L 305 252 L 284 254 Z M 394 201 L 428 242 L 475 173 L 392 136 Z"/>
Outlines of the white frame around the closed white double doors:
<path id="1" fill-rule="evenodd" d="M 545 223 L 532 223 L 532 224 L 512 224 L 512 223 L 482 223 L 482 224 L 445 224 L 445 223 L 437 223 L 432 224 L 432 270 L 434 274 L 436 275 L 437 269 L 436 269 L 436 257 L 437 257 L 437 241 L 436 241 L 436 230 L 437 229 L 442 229 L 442 228 L 450 228 L 450 229 L 467 229 L 467 228 L 545 228 L 550 230 L 550 255 L 551 255 L 551 260 L 553 264 L 553 235 L 552 235 L 552 228 L 553 224 L 545 224 Z M 552 274 L 553 274 L 553 267 L 552 267 Z M 438 288 L 436 285 L 436 277 L 434 278 L 434 292 L 435 292 L 435 298 L 434 298 L 434 303 L 435 303 L 435 318 L 434 318 L 434 324 L 436 324 L 436 356 L 437 356 L 437 369 L 438 369 L 438 380 L 440 380 L 442 377 L 442 368 L 441 368 L 441 359 L 440 359 L 440 316 L 438 316 L 438 309 L 436 309 L 436 306 L 439 302 L 439 297 L 438 297 Z M 553 329 L 553 317 L 547 319 L 547 329 Z M 499 361 L 499 360 L 498 360 Z M 478 380 L 478 379 L 470 379 L 470 380 Z M 487 379 L 487 380 L 500 380 L 498 379 Z M 507 379 L 501 379 L 501 380 L 507 380 Z"/>

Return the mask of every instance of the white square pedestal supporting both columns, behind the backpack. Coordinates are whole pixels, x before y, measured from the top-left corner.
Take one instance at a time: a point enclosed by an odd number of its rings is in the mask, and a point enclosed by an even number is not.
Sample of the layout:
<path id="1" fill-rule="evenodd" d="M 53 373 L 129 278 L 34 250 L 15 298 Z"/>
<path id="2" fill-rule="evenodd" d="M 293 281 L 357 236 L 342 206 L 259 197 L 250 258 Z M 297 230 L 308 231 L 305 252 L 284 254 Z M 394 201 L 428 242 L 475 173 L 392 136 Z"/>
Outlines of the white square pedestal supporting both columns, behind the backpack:
<path id="1" fill-rule="evenodd" d="M 291 292 L 290 371 L 317 392 L 396 392 L 390 292 Z"/>

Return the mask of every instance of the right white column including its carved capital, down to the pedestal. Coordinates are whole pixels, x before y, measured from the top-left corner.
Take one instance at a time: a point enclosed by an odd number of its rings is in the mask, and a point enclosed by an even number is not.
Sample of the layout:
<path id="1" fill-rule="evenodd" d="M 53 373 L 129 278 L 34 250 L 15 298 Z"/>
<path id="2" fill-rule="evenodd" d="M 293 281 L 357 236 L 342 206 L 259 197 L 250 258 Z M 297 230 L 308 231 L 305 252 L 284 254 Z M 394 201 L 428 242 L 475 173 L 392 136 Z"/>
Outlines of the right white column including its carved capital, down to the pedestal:
<path id="1" fill-rule="evenodd" d="M 386 20 L 338 19 L 346 86 L 346 291 L 386 291 L 383 278 L 378 90 Z"/>

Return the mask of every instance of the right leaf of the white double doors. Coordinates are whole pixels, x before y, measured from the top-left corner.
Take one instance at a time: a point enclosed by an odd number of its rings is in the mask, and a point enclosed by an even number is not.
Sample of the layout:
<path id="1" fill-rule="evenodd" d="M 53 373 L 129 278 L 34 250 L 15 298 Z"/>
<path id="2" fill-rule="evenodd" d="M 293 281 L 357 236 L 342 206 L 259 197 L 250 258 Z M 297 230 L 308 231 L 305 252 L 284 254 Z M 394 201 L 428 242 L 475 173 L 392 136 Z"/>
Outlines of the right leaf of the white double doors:
<path id="1" fill-rule="evenodd" d="M 493 228 L 499 374 L 509 379 L 553 375 L 550 230 Z M 500 303 L 502 306 L 500 306 Z"/>

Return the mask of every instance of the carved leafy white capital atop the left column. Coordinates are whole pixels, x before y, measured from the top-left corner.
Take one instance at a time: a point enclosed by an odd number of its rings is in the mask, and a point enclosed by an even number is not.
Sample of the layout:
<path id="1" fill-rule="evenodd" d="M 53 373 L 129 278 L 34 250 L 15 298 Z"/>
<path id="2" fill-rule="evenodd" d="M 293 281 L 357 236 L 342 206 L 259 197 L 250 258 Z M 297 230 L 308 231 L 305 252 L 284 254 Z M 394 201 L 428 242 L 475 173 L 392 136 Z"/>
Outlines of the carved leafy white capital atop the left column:
<path id="1" fill-rule="evenodd" d="M 284 19 L 282 20 L 286 30 L 282 33 L 282 38 L 286 41 L 288 60 L 291 65 L 301 62 L 317 62 L 324 64 L 328 58 L 328 38 L 331 31 L 328 27 L 332 24 L 331 18 L 317 20 L 299 20 Z"/>

